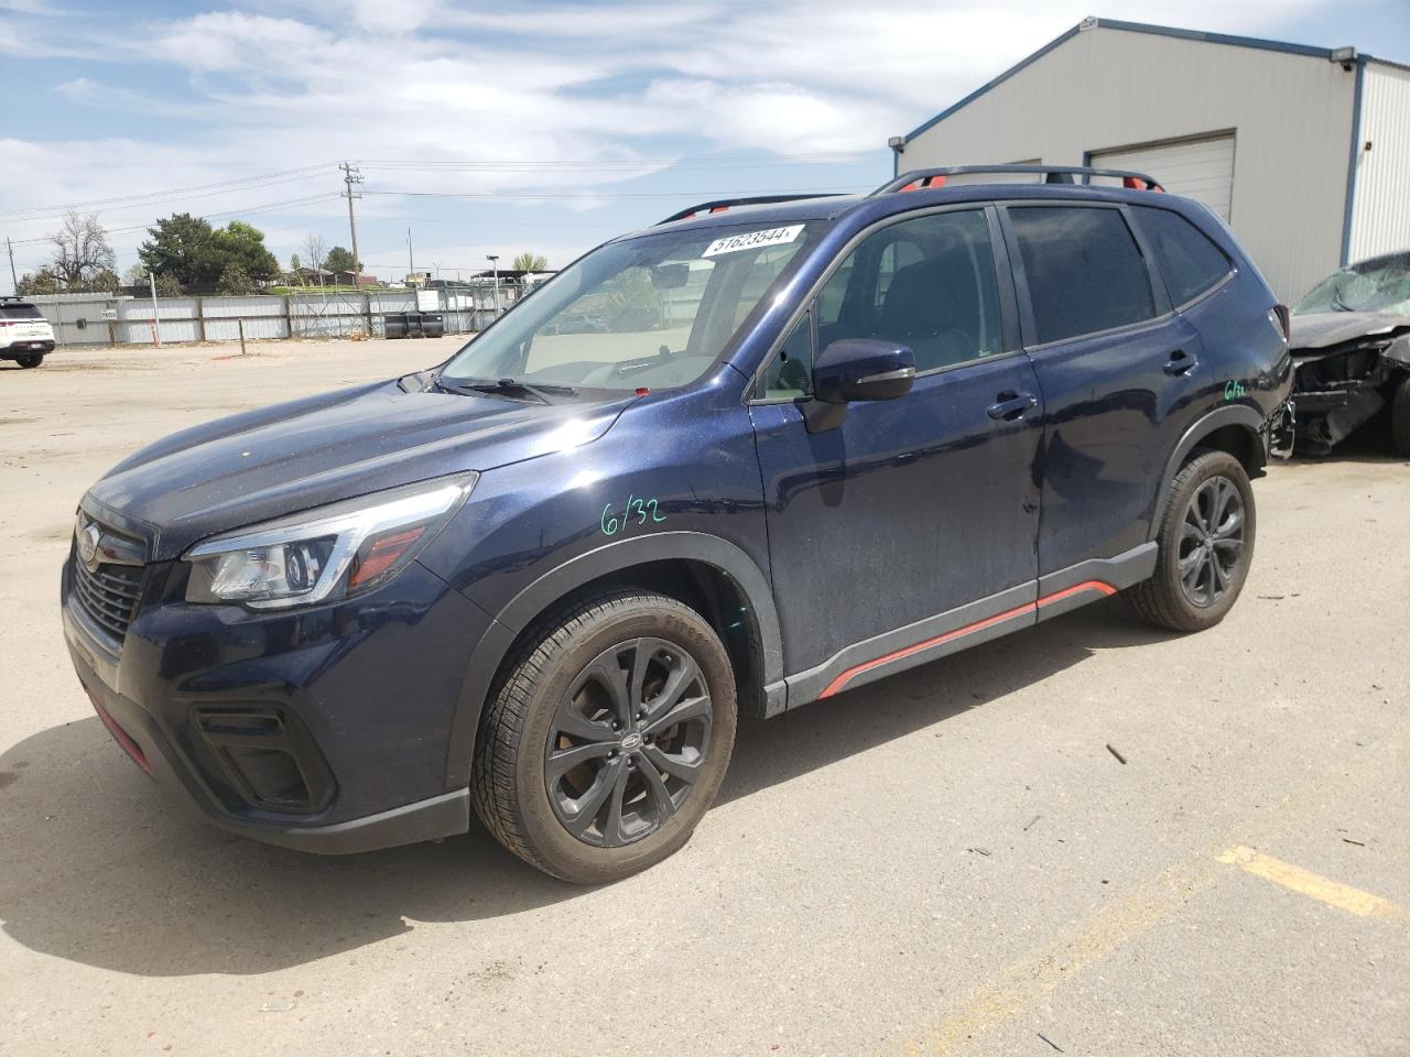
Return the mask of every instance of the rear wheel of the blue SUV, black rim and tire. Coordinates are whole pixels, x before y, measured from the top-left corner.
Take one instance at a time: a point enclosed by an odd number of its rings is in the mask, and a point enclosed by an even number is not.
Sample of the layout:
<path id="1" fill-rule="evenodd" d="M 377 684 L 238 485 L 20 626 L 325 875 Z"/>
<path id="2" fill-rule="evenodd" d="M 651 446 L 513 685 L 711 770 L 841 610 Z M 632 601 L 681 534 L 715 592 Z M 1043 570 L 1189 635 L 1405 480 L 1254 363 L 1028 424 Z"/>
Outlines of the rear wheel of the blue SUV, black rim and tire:
<path id="1" fill-rule="evenodd" d="M 1244 589 L 1256 528 L 1244 465 L 1225 451 L 1197 451 L 1166 495 L 1155 574 L 1122 593 L 1156 627 L 1213 627 Z"/>

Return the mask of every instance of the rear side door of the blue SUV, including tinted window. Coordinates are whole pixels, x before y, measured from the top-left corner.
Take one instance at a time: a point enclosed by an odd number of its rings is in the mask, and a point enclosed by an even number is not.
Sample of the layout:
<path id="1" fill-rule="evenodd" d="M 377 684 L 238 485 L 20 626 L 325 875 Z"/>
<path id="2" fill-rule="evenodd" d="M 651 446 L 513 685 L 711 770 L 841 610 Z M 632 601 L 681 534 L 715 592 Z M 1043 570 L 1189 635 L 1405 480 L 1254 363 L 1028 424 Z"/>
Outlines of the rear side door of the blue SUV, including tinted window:
<path id="1" fill-rule="evenodd" d="M 1201 347 L 1153 282 L 1124 207 L 1021 203 L 1003 213 L 1043 395 L 1038 571 L 1046 576 L 1148 543 Z"/>

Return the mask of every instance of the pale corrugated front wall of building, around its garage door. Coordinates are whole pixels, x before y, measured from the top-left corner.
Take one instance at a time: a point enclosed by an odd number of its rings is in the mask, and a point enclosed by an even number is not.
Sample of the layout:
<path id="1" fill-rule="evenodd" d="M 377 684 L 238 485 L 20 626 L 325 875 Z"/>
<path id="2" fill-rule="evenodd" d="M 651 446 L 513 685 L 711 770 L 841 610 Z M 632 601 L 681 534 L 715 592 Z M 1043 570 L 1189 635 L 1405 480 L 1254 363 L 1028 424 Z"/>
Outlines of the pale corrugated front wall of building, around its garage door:
<path id="1" fill-rule="evenodd" d="M 1321 58 L 1098 25 L 916 135 L 901 168 L 1081 165 L 1234 130 L 1232 227 L 1292 303 L 1341 262 L 1355 76 Z"/>

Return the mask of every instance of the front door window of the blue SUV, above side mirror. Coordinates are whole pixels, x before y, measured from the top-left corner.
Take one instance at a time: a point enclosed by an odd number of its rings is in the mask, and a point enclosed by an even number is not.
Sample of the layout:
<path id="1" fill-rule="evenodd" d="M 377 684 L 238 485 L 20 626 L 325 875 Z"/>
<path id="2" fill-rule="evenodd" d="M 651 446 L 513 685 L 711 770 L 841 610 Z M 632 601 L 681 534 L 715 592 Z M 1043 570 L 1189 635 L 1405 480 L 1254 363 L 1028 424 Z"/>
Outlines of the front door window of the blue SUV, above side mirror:
<path id="1" fill-rule="evenodd" d="M 818 347 L 908 345 L 918 372 L 1003 351 L 998 280 L 983 210 L 932 213 L 867 235 L 818 297 Z"/>

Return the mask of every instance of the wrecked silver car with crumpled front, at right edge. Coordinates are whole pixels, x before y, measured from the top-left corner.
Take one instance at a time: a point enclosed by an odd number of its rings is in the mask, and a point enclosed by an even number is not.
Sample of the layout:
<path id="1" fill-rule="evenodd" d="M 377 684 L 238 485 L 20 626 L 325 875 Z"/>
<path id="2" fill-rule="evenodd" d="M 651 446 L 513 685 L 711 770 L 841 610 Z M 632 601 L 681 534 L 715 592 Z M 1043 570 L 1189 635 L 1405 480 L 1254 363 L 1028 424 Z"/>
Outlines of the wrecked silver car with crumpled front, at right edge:
<path id="1" fill-rule="evenodd" d="M 1293 309 L 1297 451 L 1332 450 L 1378 414 L 1410 458 L 1410 249 L 1332 272 Z"/>

